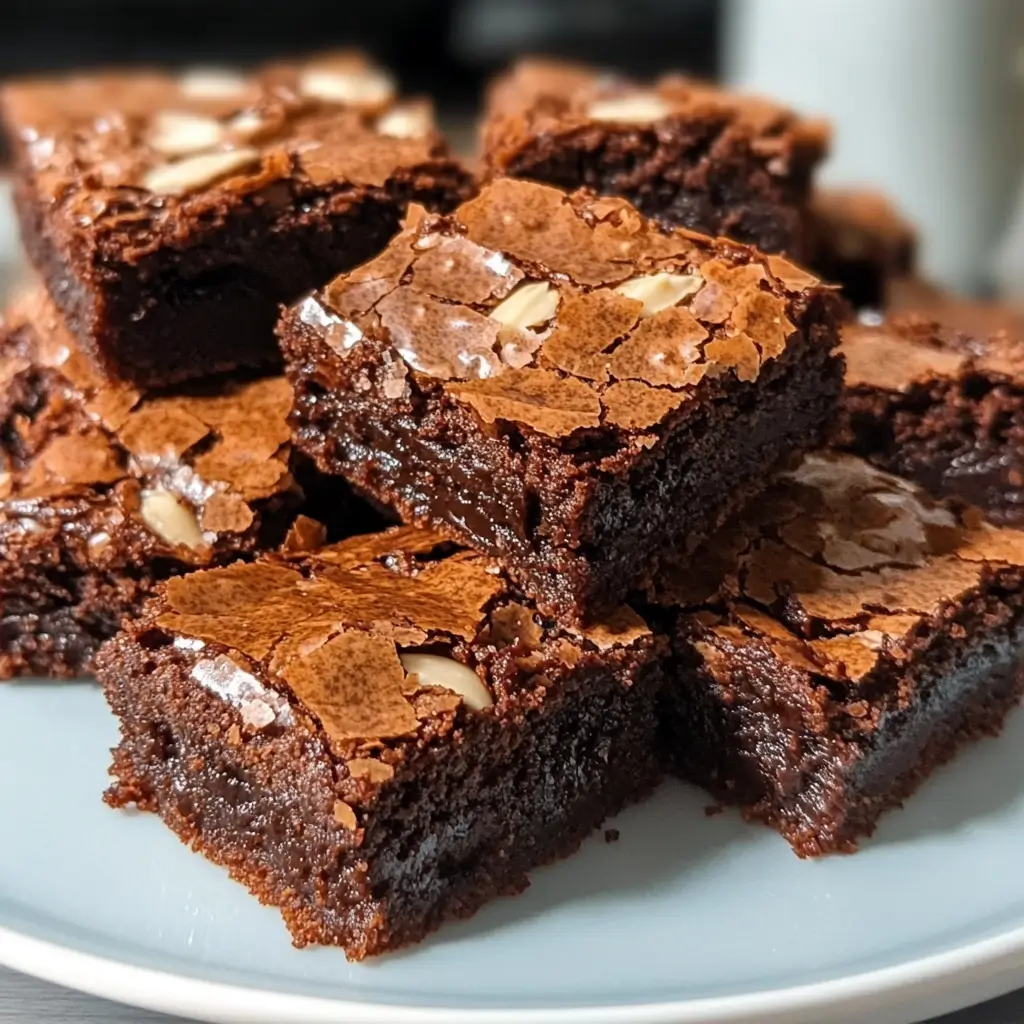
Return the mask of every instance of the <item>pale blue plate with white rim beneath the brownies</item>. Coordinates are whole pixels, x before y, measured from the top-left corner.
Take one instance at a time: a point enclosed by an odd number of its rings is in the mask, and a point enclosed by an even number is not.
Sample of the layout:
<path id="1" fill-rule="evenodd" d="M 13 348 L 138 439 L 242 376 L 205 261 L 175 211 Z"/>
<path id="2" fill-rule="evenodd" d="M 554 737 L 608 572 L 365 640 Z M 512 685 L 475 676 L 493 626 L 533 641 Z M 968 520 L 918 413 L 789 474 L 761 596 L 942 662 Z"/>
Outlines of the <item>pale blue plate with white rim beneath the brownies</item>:
<path id="1" fill-rule="evenodd" d="M 99 802 L 90 685 L 0 686 L 0 962 L 209 1021 L 909 1021 L 1024 983 L 1024 715 L 854 857 L 802 862 L 675 784 L 532 887 L 375 963 Z"/>

